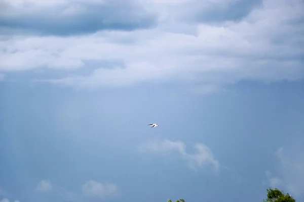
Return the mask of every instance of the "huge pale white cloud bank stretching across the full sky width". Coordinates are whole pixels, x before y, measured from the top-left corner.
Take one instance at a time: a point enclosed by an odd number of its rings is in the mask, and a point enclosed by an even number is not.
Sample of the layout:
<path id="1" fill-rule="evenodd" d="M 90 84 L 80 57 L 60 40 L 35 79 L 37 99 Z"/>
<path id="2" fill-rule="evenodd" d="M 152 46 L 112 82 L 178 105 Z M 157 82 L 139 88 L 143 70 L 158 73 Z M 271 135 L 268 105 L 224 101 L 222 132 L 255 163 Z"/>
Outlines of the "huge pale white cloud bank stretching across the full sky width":
<path id="1" fill-rule="evenodd" d="M 187 15 L 194 5 L 208 9 L 209 3 L 205 3 L 193 0 L 163 4 L 150 0 L 140 4 L 147 13 L 159 15 L 159 25 L 154 29 L 103 30 L 68 37 L 19 34 L 5 38 L 0 41 L 4 47 L 0 52 L 0 72 L 48 68 L 69 72 L 53 78 L 34 75 L 33 80 L 82 89 L 173 82 L 203 93 L 223 90 L 242 80 L 303 79 L 302 1 L 264 0 L 258 7 L 249 6 L 246 15 L 237 21 L 224 18 L 215 24 L 204 20 L 185 24 L 178 17 Z M 241 1 L 218 0 L 212 4 L 226 9 Z M 122 64 L 108 68 L 102 62 L 105 60 Z M 92 63 L 96 68 L 90 73 L 78 72 L 90 69 Z"/>

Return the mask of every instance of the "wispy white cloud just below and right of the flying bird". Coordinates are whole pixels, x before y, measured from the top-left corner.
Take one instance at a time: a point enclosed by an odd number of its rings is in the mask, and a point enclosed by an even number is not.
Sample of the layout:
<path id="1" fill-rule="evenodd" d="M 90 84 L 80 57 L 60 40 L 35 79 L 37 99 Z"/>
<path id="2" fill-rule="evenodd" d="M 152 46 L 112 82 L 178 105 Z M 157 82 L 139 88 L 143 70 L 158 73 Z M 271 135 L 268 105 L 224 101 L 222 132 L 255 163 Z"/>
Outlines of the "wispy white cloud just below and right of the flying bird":
<path id="1" fill-rule="evenodd" d="M 208 146 L 197 143 L 194 149 L 195 152 L 193 154 L 188 154 L 183 142 L 174 142 L 167 139 L 163 141 L 149 141 L 139 146 L 139 150 L 142 152 L 153 152 L 164 155 L 177 152 L 187 163 L 187 166 L 194 170 L 205 166 L 211 166 L 215 172 L 219 170 L 220 163 L 214 159 L 212 151 Z"/>

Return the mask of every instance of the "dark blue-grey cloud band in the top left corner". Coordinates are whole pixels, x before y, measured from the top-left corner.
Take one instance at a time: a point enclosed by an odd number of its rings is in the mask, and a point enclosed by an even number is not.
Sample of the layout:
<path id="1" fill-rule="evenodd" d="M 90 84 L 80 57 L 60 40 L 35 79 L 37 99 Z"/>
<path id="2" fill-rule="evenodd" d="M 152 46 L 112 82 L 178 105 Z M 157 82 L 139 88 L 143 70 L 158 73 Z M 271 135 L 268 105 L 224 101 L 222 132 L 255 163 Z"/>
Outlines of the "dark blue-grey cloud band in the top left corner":
<path id="1" fill-rule="evenodd" d="M 4 0 L 0 3 L 2 33 L 71 35 L 98 30 L 134 30 L 157 23 L 135 1 Z"/>

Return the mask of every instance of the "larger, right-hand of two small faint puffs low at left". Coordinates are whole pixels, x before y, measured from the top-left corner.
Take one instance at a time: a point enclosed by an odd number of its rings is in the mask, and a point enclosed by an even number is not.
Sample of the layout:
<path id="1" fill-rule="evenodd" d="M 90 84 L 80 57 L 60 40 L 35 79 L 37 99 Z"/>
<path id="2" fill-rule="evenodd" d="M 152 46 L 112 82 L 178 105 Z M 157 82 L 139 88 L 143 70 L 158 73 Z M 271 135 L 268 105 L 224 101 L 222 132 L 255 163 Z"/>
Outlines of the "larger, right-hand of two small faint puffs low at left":
<path id="1" fill-rule="evenodd" d="M 104 198 L 113 195 L 118 191 L 118 186 L 111 183 L 100 183 L 94 180 L 87 181 L 82 186 L 82 192 L 85 196 Z"/>

